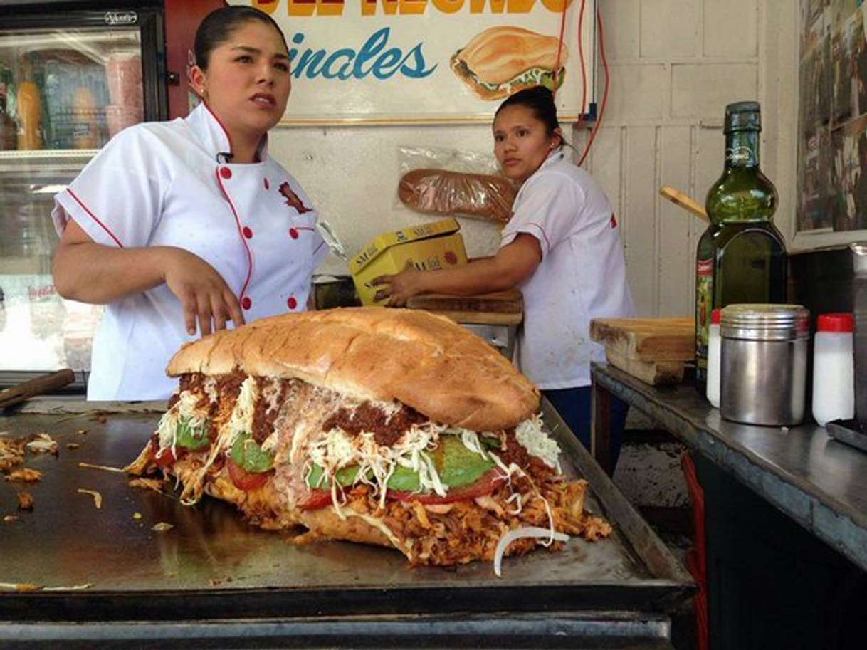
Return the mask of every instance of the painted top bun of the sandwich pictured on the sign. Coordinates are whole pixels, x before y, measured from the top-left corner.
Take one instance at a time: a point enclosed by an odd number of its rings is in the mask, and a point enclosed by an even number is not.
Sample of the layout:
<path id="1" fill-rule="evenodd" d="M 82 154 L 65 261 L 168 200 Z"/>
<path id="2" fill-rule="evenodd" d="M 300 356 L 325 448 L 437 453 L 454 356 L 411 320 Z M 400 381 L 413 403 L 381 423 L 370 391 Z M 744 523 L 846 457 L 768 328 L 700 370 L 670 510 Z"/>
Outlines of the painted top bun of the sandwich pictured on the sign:
<path id="1" fill-rule="evenodd" d="M 489 84 L 510 81 L 525 70 L 557 66 L 559 39 L 511 25 L 485 29 L 466 43 L 455 58 L 479 80 Z M 560 53 L 566 59 L 566 47 Z"/>

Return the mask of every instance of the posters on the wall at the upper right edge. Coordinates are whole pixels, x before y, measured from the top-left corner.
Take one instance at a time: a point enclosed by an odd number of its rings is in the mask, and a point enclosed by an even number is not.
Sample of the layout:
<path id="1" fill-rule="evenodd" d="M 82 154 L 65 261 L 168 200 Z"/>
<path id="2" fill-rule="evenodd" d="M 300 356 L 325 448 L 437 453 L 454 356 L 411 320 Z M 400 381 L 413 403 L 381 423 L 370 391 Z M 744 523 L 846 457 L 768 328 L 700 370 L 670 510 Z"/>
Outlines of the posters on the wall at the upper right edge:
<path id="1" fill-rule="evenodd" d="M 867 230 L 867 3 L 801 0 L 798 233 Z M 841 237 L 819 237 L 849 233 Z"/>

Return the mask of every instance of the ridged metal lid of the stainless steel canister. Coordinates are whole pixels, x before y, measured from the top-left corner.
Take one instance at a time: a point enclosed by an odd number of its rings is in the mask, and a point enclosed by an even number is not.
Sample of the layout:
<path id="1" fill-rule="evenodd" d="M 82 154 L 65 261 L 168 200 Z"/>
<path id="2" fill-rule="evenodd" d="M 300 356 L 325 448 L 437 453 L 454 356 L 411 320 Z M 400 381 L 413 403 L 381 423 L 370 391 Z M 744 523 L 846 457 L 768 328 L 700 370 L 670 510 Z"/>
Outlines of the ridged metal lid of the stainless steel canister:
<path id="1" fill-rule="evenodd" d="M 720 335 L 748 341 L 810 338 L 810 311 L 801 305 L 733 304 L 722 309 Z"/>

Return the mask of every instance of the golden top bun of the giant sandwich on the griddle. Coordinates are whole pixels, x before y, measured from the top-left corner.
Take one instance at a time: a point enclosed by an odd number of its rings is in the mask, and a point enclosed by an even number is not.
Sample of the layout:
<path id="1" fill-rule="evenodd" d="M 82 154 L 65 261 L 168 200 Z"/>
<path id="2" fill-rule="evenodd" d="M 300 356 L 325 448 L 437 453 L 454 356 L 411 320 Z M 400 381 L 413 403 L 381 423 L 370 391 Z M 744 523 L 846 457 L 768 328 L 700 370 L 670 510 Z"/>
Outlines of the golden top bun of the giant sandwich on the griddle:
<path id="1" fill-rule="evenodd" d="M 486 341 L 443 316 L 360 307 L 271 316 L 186 344 L 166 373 L 297 378 L 366 400 L 398 400 L 473 431 L 518 425 L 538 389 Z"/>

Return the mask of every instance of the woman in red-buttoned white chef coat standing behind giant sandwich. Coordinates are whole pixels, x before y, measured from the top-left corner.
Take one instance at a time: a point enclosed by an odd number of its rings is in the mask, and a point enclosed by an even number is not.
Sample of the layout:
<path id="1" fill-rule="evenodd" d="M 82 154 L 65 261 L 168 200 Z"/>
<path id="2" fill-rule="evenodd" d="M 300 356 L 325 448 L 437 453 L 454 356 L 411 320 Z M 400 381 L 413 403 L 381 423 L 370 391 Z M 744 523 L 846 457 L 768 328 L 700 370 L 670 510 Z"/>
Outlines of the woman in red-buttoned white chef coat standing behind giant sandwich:
<path id="1" fill-rule="evenodd" d="M 61 296 L 104 303 L 88 400 L 159 400 L 182 343 L 303 309 L 326 247 L 310 198 L 268 155 L 290 62 L 262 11 L 224 7 L 199 25 L 186 119 L 118 133 L 55 197 Z"/>

